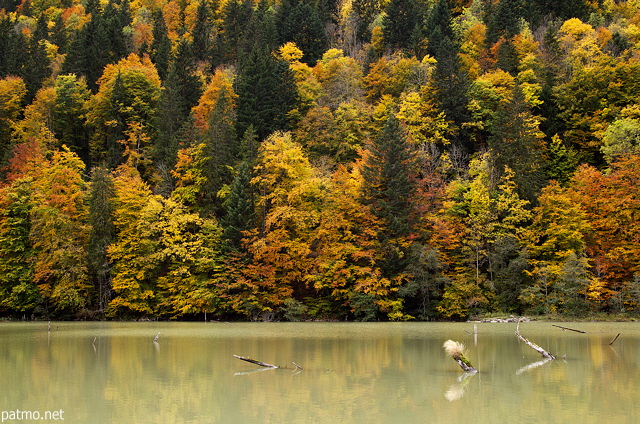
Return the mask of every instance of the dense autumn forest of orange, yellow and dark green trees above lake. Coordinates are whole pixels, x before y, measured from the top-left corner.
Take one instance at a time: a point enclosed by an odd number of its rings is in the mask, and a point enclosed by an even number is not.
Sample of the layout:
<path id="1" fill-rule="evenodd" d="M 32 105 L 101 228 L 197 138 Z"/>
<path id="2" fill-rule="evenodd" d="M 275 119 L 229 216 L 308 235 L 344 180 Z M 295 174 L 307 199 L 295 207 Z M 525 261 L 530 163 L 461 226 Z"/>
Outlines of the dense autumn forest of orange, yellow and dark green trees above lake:
<path id="1" fill-rule="evenodd" d="M 639 0 L 0 6 L 0 315 L 640 312 Z"/>

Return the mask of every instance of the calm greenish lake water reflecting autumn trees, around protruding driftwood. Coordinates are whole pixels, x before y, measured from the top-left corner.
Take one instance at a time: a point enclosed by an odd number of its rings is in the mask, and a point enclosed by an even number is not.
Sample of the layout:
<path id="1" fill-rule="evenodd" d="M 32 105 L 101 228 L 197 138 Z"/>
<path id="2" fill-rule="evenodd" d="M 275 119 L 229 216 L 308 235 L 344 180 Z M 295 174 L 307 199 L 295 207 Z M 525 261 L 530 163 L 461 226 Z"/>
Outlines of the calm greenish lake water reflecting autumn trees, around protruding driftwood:
<path id="1" fill-rule="evenodd" d="M 0 411 L 63 411 L 67 424 L 640 423 L 640 323 L 561 325 L 588 333 L 520 325 L 559 358 L 545 363 L 510 323 L 477 335 L 471 323 L 2 323 Z M 446 356 L 447 339 L 478 374 Z"/>

